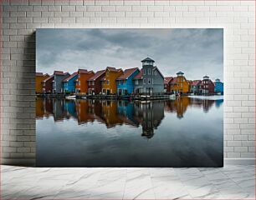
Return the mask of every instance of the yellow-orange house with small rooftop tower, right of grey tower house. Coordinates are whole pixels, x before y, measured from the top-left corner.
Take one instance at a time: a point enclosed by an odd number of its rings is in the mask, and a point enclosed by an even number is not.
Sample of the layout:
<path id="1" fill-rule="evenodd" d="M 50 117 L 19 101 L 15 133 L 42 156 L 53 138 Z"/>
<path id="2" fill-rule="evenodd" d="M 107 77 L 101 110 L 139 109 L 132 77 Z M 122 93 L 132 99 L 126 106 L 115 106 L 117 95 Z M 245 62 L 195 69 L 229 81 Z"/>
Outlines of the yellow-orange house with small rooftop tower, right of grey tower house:
<path id="1" fill-rule="evenodd" d="M 177 72 L 177 77 L 172 78 L 171 92 L 181 94 L 189 92 L 189 84 L 183 72 Z"/>

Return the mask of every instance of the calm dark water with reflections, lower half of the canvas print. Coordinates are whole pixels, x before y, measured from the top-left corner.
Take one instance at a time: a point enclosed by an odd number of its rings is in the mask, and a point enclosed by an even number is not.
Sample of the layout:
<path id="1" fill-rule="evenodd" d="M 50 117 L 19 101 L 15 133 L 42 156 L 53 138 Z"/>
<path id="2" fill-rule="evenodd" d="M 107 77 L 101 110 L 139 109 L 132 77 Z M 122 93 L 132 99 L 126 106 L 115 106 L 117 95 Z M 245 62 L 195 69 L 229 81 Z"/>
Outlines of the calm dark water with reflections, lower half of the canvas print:
<path id="1" fill-rule="evenodd" d="M 36 100 L 38 167 L 222 167 L 223 99 Z"/>

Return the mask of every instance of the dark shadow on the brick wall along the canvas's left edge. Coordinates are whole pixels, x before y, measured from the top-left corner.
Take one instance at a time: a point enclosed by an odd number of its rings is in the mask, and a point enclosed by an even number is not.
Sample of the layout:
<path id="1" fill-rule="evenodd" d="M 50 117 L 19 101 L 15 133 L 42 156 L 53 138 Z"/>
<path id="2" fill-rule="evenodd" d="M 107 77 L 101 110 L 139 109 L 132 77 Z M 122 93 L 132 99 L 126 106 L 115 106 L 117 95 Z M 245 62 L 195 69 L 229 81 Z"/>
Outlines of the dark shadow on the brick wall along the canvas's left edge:
<path id="1" fill-rule="evenodd" d="M 35 165 L 35 38 L 35 32 L 24 36 L 24 43 L 20 42 L 24 45 L 23 53 L 18 58 L 13 57 L 16 64 L 13 66 L 15 69 L 11 70 L 17 74 L 17 77 L 16 80 L 11 80 L 14 78 L 10 77 L 9 82 L 17 85 L 14 91 L 16 98 L 10 102 L 10 106 L 15 110 L 7 110 L 5 113 L 9 124 L 6 124 L 8 126 L 2 129 L 1 164 Z M 13 91 L 13 87 L 6 86 L 6 88 L 9 88 L 10 92 Z"/>

